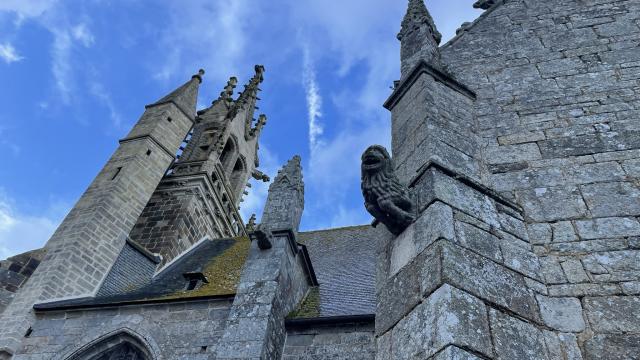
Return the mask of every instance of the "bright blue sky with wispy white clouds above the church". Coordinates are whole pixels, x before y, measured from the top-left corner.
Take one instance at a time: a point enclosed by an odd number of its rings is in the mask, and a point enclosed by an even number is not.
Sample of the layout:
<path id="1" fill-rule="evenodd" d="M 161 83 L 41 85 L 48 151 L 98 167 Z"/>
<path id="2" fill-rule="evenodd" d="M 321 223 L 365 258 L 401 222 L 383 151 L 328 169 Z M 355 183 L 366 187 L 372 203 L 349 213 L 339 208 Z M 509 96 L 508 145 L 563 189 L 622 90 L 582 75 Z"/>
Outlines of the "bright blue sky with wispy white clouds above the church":
<path id="1" fill-rule="evenodd" d="M 479 12 L 427 0 L 445 41 Z M 42 246 L 144 105 L 199 68 L 200 106 L 266 67 L 261 169 L 303 158 L 305 230 L 370 220 L 359 156 L 390 143 L 404 0 L 0 1 L 0 259 Z M 239 87 L 240 88 L 240 87 Z M 262 213 L 254 183 L 244 216 Z"/>

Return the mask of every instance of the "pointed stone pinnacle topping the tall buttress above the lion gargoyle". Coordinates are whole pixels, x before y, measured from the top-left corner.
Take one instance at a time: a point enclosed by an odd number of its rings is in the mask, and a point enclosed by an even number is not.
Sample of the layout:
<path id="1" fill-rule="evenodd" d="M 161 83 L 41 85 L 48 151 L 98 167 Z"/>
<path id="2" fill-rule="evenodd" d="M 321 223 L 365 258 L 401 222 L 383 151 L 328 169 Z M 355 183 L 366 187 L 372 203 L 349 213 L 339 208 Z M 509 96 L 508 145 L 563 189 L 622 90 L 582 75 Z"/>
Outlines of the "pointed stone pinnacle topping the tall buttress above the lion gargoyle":
<path id="1" fill-rule="evenodd" d="M 424 0 L 409 0 L 398 40 L 401 42 L 402 78 L 408 75 L 421 60 L 435 68 L 441 68 L 438 46 L 442 40 L 442 34 L 436 28 Z"/>

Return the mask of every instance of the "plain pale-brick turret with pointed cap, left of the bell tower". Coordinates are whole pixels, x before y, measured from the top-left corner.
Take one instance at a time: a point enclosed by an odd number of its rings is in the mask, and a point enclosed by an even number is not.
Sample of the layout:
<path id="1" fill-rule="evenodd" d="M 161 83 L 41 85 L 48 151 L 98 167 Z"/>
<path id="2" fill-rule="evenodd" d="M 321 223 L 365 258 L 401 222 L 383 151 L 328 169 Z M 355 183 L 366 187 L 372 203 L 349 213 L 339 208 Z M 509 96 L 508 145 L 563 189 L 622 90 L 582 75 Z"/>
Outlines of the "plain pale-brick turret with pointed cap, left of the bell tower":
<path id="1" fill-rule="evenodd" d="M 46 258 L 0 317 L 0 359 L 20 348 L 35 303 L 95 294 L 193 126 L 203 73 L 146 107 L 51 236 Z"/>

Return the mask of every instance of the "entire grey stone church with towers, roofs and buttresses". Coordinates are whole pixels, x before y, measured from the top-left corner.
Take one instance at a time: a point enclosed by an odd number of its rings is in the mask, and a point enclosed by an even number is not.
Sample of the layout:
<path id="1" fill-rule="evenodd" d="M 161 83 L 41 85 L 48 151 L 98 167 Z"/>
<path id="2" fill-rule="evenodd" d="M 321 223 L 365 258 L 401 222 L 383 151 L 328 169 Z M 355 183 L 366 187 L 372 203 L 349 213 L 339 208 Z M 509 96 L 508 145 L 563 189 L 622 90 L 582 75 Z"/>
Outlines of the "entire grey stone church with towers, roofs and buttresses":
<path id="1" fill-rule="evenodd" d="M 371 224 L 299 231 L 301 159 L 258 170 L 262 66 L 206 109 L 202 71 L 147 105 L 1 263 L 0 359 L 640 359 L 640 1 L 475 6 L 441 44 L 409 1 Z"/>

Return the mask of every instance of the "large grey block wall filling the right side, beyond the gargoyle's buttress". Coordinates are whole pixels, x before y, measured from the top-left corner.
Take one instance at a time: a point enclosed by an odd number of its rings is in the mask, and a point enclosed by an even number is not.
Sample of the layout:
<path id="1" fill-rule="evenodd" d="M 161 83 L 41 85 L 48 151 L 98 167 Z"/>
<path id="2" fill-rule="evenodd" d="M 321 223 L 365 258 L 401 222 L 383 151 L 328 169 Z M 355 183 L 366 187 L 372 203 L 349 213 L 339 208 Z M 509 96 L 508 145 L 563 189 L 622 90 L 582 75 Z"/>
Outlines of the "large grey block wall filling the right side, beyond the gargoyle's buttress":
<path id="1" fill-rule="evenodd" d="M 506 0 L 442 49 L 477 94 L 483 180 L 524 209 L 590 359 L 637 353 L 640 3 Z M 575 324 L 575 323 L 574 323 Z"/>

